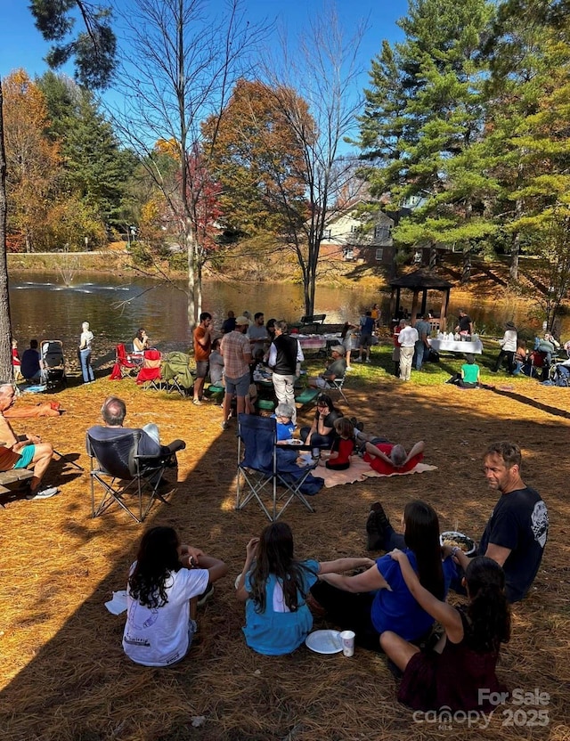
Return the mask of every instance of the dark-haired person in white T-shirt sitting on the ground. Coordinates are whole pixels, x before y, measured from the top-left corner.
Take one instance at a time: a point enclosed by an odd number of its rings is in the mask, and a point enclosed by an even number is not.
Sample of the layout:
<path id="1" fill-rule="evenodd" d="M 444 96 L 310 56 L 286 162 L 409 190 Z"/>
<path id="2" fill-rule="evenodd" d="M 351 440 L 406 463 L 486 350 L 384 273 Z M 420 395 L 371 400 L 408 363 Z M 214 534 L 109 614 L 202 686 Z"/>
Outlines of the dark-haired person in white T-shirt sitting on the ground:
<path id="1" fill-rule="evenodd" d="M 180 661 L 196 631 L 198 598 L 209 596 L 227 570 L 219 558 L 181 543 L 173 527 L 144 533 L 126 590 L 126 655 L 145 666 Z"/>

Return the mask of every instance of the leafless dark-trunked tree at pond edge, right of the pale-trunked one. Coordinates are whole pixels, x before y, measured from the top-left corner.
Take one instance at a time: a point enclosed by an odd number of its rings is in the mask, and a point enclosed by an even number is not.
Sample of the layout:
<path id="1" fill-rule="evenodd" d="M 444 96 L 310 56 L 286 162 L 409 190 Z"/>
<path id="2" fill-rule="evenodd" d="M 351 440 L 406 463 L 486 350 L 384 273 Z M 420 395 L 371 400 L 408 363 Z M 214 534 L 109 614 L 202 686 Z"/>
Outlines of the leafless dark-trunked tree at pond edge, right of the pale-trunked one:
<path id="1" fill-rule="evenodd" d="M 303 276 L 305 314 L 314 314 L 314 294 L 321 242 L 325 229 L 338 210 L 347 183 L 354 176 L 354 163 L 339 156 L 339 147 L 351 133 L 355 117 L 362 108 L 358 76 L 362 69 L 357 56 L 366 21 L 345 38 L 334 6 L 308 21 L 294 54 L 287 39 L 281 40 L 281 58 L 265 64 L 265 79 L 276 90 L 296 92 L 292 98 L 278 96 L 282 115 L 297 137 L 303 152 L 303 167 L 297 173 L 305 186 L 308 217 L 299 220 L 289 192 L 278 194 L 283 212 L 289 218 L 289 242 L 295 250 Z M 291 102 L 293 101 L 293 104 Z M 308 103 L 312 126 L 307 126 L 306 109 L 295 102 Z"/>

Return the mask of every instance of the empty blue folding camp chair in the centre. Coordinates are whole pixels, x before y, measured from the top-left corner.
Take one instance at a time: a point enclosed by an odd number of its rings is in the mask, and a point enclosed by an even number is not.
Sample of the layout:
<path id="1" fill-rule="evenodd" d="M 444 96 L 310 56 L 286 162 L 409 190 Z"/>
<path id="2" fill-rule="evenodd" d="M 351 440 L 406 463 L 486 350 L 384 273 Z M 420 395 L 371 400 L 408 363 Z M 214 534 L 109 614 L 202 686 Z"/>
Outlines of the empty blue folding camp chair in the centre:
<path id="1" fill-rule="evenodd" d="M 274 417 L 238 415 L 238 476 L 235 509 L 243 509 L 255 499 L 266 517 L 274 522 L 294 499 L 301 501 L 309 512 L 314 512 L 301 487 L 318 465 L 318 460 L 299 468 L 295 463 L 280 460 L 285 449 L 277 444 L 277 420 Z M 296 456 L 294 456 L 296 457 Z M 277 487 L 285 489 L 278 495 Z M 269 499 L 270 508 L 262 497 Z M 278 509 L 278 501 L 287 497 Z"/>

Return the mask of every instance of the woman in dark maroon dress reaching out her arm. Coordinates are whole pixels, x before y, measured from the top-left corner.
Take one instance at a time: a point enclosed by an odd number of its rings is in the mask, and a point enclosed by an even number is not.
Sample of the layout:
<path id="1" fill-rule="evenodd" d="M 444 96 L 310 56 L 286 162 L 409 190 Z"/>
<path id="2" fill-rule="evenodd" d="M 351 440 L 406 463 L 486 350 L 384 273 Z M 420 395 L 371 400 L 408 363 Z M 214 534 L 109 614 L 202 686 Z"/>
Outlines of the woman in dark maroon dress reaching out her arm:
<path id="1" fill-rule="evenodd" d="M 465 572 L 469 603 L 452 607 L 437 599 L 419 582 L 410 559 L 401 550 L 390 553 L 403 578 L 445 635 L 433 651 L 419 648 L 387 631 L 380 643 L 403 671 L 400 702 L 417 710 L 485 710 L 489 696 L 504 691 L 495 673 L 501 643 L 510 638 L 510 613 L 505 597 L 505 574 L 493 558 L 473 558 Z M 481 695 L 480 690 L 485 690 Z"/>

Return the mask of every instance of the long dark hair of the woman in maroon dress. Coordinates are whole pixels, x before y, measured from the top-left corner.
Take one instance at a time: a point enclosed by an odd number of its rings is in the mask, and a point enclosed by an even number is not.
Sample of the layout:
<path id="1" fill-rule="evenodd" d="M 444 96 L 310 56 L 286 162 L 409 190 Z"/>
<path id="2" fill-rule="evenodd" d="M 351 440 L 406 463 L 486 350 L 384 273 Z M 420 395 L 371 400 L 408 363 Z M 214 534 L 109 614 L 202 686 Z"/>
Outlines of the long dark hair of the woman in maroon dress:
<path id="1" fill-rule="evenodd" d="M 472 558 L 465 573 L 471 623 L 469 643 L 478 653 L 498 651 L 510 638 L 510 609 L 505 574 L 493 558 Z"/>

